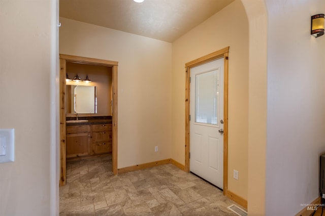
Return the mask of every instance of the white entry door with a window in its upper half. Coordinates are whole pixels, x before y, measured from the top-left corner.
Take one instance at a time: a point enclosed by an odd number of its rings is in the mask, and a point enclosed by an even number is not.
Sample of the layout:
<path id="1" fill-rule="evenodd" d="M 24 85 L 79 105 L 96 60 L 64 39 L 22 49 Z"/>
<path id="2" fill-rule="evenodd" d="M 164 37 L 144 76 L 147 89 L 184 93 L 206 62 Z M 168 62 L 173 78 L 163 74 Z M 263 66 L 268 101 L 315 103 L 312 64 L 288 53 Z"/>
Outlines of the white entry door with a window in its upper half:
<path id="1" fill-rule="evenodd" d="M 223 189 L 223 58 L 190 68 L 190 171 Z"/>

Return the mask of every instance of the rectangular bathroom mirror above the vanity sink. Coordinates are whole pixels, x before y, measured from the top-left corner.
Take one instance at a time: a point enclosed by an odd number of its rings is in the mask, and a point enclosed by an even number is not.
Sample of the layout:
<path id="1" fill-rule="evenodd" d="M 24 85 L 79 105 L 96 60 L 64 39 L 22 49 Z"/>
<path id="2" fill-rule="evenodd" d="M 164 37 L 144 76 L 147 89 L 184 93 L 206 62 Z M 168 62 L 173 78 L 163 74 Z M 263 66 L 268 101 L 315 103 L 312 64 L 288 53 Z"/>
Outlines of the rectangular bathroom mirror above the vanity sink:
<path id="1" fill-rule="evenodd" d="M 66 85 L 67 113 L 97 113 L 96 87 L 85 85 Z"/>

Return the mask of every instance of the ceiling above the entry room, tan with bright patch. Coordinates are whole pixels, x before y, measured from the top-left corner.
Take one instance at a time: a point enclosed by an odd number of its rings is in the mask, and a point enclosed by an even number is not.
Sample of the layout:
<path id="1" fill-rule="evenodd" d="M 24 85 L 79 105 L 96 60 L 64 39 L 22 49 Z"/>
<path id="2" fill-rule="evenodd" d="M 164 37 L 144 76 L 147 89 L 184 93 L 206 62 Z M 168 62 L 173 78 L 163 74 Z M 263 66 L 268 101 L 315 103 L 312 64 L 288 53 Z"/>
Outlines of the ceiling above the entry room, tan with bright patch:
<path id="1" fill-rule="evenodd" d="M 173 42 L 235 0 L 60 0 L 60 17 Z"/>

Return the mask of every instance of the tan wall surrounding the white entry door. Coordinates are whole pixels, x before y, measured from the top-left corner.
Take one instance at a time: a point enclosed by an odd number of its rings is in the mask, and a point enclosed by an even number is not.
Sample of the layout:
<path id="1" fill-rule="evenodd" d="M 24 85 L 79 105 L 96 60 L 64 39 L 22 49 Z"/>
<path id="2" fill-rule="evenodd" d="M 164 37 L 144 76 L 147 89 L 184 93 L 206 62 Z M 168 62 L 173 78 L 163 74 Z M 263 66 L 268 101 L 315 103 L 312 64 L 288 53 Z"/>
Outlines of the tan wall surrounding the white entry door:
<path id="1" fill-rule="evenodd" d="M 235 1 L 173 42 L 172 158 L 185 161 L 185 63 L 230 46 L 229 53 L 229 183 L 247 199 L 248 176 L 248 21 Z M 239 171 L 239 180 L 233 178 Z"/>

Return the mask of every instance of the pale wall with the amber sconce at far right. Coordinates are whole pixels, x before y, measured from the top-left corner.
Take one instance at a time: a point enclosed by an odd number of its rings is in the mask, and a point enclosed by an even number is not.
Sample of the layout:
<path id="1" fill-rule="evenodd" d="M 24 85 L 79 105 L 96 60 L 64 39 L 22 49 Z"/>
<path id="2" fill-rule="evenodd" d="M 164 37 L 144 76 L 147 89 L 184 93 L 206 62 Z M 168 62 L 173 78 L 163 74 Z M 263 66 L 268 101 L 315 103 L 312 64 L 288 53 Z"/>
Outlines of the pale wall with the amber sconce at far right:
<path id="1" fill-rule="evenodd" d="M 324 13 L 325 2 L 267 1 L 267 8 L 266 215 L 294 215 L 319 196 L 325 36 L 310 35 L 310 17 Z"/>

